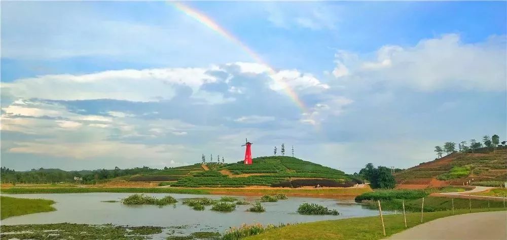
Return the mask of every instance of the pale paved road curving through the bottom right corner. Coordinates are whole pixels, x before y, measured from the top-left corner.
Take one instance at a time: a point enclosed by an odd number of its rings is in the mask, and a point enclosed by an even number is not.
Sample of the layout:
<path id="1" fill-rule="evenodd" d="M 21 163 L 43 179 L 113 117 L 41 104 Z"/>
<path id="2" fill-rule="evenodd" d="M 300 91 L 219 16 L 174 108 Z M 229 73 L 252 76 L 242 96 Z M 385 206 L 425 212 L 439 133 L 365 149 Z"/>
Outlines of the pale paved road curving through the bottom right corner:
<path id="1" fill-rule="evenodd" d="M 507 212 L 482 212 L 439 218 L 387 239 L 507 239 Z"/>

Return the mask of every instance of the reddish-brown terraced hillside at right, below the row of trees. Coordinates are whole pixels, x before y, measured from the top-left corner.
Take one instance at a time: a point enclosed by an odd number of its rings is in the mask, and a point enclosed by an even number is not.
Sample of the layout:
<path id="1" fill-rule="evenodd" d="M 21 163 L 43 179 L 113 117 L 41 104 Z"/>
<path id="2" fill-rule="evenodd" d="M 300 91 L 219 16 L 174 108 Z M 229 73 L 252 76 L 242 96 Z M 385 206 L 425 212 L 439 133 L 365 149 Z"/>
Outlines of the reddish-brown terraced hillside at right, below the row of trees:
<path id="1" fill-rule="evenodd" d="M 474 182 L 505 181 L 507 150 L 486 148 L 476 153 L 451 153 L 431 162 L 395 173 L 397 184 L 462 185 Z"/>

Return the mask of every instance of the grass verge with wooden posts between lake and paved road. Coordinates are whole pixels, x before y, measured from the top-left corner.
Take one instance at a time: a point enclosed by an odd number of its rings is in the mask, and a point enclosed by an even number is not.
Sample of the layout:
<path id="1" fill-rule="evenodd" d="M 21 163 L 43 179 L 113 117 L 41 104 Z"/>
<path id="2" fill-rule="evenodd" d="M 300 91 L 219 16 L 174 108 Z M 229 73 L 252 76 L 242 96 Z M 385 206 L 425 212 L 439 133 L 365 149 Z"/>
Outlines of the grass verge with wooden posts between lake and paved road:
<path id="1" fill-rule="evenodd" d="M 491 209 L 491 211 L 502 211 Z M 485 212 L 488 209 L 472 209 L 472 212 Z M 456 210 L 455 215 L 468 213 L 468 210 Z M 451 216 L 451 211 L 425 213 L 423 222 Z M 407 226 L 414 227 L 421 224 L 421 213 L 407 214 Z M 385 232 L 387 236 L 405 230 L 402 214 L 384 215 Z M 349 218 L 340 220 L 318 221 L 288 225 L 280 228 L 267 230 L 255 236 L 244 239 L 381 239 L 382 224 L 378 216 Z"/>

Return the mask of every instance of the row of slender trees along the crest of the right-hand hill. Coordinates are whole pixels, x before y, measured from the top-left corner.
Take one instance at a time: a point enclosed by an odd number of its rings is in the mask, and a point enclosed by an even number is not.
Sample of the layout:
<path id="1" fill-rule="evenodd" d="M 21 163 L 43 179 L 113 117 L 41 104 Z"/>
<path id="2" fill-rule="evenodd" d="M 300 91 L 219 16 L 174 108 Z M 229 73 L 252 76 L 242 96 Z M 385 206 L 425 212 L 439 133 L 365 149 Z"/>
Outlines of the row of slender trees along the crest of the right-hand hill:
<path id="1" fill-rule="evenodd" d="M 482 142 L 477 141 L 476 139 L 470 139 L 469 144 L 466 141 L 461 141 L 457 144 L 458 149 L 456 149 L 455 142 L 445 142 L 443 146 L 435 146 L 434 152 L 437 154 L 438 158 L 441 158 L 444 152 L 446 155 L 453 152 L 475 152 L 478 148 L 483 146 L 496 151 L 498 146 L 505 146 L 505 143 L 507 143 L 506 141 L 502 141 L 500 143 L 500 137 L 496 134 L 492 137 L 484 135 L 481 140 Z"/>

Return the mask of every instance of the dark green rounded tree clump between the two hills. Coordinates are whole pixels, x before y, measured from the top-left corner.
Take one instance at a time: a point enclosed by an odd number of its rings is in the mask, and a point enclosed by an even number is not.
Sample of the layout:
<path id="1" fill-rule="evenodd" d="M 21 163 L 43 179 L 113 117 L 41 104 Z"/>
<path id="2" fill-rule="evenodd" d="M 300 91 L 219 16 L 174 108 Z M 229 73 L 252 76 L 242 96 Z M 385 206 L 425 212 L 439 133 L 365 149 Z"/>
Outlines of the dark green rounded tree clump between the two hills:
<path id="1" fill-rule="evenodd" d="M 379 166 L 375 168 L 372 163 L 359 171 L 359 175 L 370 181 L 372 188 L 394 188 L 396 182 L 391 174 L 391 169 Z"/>

